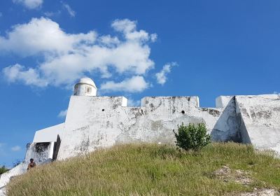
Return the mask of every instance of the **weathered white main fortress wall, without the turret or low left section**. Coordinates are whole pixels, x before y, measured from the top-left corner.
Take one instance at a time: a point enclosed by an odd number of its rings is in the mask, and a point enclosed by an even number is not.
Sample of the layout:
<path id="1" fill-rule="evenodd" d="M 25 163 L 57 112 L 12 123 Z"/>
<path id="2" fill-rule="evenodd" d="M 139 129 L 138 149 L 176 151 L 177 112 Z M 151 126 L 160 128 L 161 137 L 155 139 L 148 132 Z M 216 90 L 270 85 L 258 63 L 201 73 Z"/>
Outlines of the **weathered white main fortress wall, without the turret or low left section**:
<path id="1" fill-rule="evenodd" d="M 270 99 L 275 103 L 269 104 L 267 100 Z M 146 141 L 172 144 L 173 130 L 181 123 L 205 123 L 214 141 L 252 143 L 253 140 L 252 144 L 258 148 L 279 149 L 280 113 L 277 109 L 280 101 L 275 94 L 221 96 L 216 99 L 216 109 L 200 108 L 198 97 L 144 97 L 141 107 L 126 107 L 122 104 L 123 100 L 126 99 L 71 97 L 58 159 L 118 143 Z M 255 118 L 252 122 L 239 111 L 240 107 L 244 111 L 246 104 L 255 111 L 255 114 L 251 112 Z M 274 111 L 272 116 L 269 116 L 269 109 Z M 257 129 L 260 125 L 263 132 L 255 131 L 255 134 L 248 135 L 250 127 L 260 130 Z M 266 136 L 268 133 L 271 137 Z"/>

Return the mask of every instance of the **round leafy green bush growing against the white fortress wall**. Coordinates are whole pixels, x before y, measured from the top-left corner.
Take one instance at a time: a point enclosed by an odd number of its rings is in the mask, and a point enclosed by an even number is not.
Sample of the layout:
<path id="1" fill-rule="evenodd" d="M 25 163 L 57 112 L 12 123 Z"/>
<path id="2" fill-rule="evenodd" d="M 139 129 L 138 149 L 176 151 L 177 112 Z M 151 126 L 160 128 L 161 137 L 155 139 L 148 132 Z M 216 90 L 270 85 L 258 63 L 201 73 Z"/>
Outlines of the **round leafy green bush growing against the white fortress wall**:
<path id="1" fill-rule="evenodd" d="M 186 151 L 193 150 L 199 152 L 201 148 L 211 142 L 211 137 L 207 134 L 206 126 L 203 123 L 189 124 L 188 126 L 178 126 L 178 133 L 173 130 L 176 137 L 176 146 Z"/>

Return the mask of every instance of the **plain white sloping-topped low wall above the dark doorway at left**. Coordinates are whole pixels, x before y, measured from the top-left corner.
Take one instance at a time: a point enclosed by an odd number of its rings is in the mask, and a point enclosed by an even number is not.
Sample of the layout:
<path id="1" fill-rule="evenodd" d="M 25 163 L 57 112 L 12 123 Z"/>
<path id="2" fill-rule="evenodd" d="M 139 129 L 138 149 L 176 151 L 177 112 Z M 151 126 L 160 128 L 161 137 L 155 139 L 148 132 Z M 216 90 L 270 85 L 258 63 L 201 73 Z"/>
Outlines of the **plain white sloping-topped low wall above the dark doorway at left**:
<path id="1" fill-rule="evenodd" d="M 52 127 L 38 130 L 35 132 L 33 142 L 51 142 L 57 141 L 57 135 L 61 135 L 64 130 L 64 123 Z"/>

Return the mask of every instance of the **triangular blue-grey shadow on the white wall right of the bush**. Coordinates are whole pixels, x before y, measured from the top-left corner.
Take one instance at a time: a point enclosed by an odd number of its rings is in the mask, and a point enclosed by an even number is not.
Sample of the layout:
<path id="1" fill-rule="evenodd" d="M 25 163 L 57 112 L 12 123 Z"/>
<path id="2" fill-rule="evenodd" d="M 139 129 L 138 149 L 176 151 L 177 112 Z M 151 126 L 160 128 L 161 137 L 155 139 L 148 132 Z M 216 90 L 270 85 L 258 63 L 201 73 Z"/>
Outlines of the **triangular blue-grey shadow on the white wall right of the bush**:
<path id="1" fill-rule="evenodd" d="M 232 97 L 214 125 L 211 132 L 212 140 L 241 143 L 242 140 L 239 131 L 241 120 L 239 118 L 241 116 L 237 116 L 235 97 Z"/>

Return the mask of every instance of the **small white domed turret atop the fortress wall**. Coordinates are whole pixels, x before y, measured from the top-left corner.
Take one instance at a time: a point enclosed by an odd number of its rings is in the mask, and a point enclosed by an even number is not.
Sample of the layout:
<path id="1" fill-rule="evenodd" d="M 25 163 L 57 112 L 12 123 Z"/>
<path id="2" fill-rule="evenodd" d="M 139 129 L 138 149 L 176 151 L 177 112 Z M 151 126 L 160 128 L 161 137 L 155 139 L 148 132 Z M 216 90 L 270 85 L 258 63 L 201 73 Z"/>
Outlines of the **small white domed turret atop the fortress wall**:
<path id="1" fill-rule="evenodd" d="M 90 78 L 80 78 L 74 87 L 74 95 L 77 96 L 96 96 L 97 87 Z"/>

